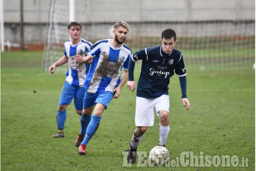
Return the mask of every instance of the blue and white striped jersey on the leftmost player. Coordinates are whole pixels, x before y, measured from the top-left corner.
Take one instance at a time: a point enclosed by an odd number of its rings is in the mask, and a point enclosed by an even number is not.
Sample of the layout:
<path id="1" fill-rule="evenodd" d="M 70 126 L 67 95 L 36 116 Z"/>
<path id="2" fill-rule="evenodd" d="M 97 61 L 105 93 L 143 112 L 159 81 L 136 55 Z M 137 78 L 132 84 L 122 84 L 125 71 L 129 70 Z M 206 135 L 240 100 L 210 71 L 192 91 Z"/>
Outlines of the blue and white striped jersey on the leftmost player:
<path id="1" fill-rule="evenodd" d="M 81 39 L 77 44 L 72 45 L 72 41 L 66 41 L 64 44 L 65 52 L 64 55 L 68 58 L 69 70 L 66 74 L 66 81 L 69 84 L 79 85 L 83 87 L 86 74 L 89 70 L 90 65 L 74 60 L 75 55 L 83 56 L 83 54 L 92 46 L 92 43 Z"/>

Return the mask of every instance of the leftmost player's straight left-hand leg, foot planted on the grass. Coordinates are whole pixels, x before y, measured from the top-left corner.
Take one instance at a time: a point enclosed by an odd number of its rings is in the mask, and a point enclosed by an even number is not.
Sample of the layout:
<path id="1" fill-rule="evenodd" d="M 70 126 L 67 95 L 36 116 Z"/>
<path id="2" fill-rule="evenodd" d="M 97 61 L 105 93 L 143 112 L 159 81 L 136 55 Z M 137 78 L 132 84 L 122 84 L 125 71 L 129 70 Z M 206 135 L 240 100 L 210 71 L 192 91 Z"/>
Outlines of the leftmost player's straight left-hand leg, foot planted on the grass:
<path id="1" fill-rule="evenodd" d="M 58 132 L 53 135 L 53 138 L 60 138 L 64 137 L 64 127 L 65 127 L 65 121 L 66 121 L 66 108 L 67 105 L 69 105 L 72 101 L 72 99 L 75 96 L 75 91 L 71 84 L 68 82 L 65 82 L 62 91 L 60 93 L 60 101 L 59 101 L 59 107 L 57 111 L 57 128 Z"/>

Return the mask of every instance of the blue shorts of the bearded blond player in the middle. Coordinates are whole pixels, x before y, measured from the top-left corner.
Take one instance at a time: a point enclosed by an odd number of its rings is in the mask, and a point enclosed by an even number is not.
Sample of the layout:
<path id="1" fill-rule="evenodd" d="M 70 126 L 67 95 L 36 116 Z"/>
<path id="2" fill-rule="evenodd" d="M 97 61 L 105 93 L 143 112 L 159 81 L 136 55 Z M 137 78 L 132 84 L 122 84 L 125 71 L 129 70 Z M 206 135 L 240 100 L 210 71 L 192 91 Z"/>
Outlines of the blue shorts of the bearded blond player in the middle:
<path id="1" fill-rule="evenodd" d="M 101 103 L 107 109 L 110 101 L 113 99 L 114 93 L 111 91 L 104 91 L 102 93 L 87 93 L 85 91 L 83 99 L 83 108 L 89 108 L 97 103 Z"/>

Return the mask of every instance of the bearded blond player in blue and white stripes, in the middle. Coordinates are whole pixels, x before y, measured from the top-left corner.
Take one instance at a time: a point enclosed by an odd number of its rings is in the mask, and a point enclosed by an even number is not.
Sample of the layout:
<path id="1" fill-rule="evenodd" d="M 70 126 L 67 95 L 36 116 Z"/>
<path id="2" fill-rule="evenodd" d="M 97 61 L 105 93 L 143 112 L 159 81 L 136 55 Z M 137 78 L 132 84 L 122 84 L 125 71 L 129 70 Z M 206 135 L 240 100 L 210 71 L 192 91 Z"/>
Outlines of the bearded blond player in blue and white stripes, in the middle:
<path id="1" fill-rule="evenodd" d="M 127 81 L 131 49 L 124 44 L 124 41 L 128 32 L 129 25 L 125 21 L 117 21 L 114 24 L 113 39 L 97 41 L 83 57 L 85 63 L 93 60 L 84 82 L 86 91 L 83 99 L 81 130 L 75 141 L 80 155 L 85 155 L 87 143 L 98 129 L 103 111 L 112 98 L 120 96 L 121 89 Z M 120 79 L 122 68 L 124 73 Z"/>

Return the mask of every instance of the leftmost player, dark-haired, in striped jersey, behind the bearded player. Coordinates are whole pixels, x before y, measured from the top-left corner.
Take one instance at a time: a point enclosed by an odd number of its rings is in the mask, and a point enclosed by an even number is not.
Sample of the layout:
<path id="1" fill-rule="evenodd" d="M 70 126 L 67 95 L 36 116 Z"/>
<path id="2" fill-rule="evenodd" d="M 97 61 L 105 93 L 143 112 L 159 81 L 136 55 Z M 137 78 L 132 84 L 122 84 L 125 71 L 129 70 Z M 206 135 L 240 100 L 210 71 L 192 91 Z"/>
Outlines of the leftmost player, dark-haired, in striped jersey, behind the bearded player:
<path id="1" fill-rule="evenodd" d="M 83 83 L 90 67 L 89 63 L 84 64 L 83 54 L 92 46 L 92 43 L 80 38 L 81 29 L 82 26 L 80 23 L 69 23 L 68 33 L 71 40 L 66 41 L 64 44 L 64 56 L 49 67 L 50 73 L 54 74 L 57 66 L 61 66 L 67 62 L 69 63 L 69 70 L 67 71 L 65 84 L 60 94 L 57 112 L 58 132 L 52 136 L 53 138 L 64 137 L 64 124 L 67 117 L 66 108 L 72 99 L 74 99 L 75 110 L 79 115 L 81 115 L 83 110 L 83 97 L 85 93 Z"/>

